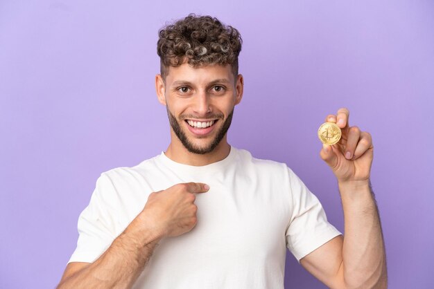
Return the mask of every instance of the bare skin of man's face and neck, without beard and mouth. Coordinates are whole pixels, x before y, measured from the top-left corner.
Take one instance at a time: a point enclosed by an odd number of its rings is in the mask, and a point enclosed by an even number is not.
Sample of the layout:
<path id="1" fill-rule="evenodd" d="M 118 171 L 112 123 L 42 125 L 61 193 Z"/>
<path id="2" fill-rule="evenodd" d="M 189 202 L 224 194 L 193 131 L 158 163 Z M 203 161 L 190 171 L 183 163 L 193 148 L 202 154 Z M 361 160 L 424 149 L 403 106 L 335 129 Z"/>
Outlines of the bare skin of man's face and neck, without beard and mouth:
<path id="1" fill-rule="evenodd" d="M 222 87 L 223 91 L 216 91 L 221 89 L 217 88 L 218 86 Z M 175 68 L 170 67 L 166 80 L 163 80 L 161 75 L 155 77 L 159 102 L 177 116 L 182 131 L 199 148 L 211 145 L 234 106 L 241 102 L 243 87 L 243 75 L 234 77 L 230 66 L 192 68 L 188 64 L 182 64 Z M 214 124 L 214 131 L 205 137 L 190 133 L 187 127 L 189 124 L 184 121 L 214 119 L 212 115 L 223 115 L 223 119 L 218 120 Z M 230 145 L 225 135 L 213 151 L 203 155 L 191 153 L 182 145 L 171 127 L 171 144 L 166 150 L 166 156 L 182 164 L 202 166 L 223 160 L 229 154 L 229 150 Z"/>

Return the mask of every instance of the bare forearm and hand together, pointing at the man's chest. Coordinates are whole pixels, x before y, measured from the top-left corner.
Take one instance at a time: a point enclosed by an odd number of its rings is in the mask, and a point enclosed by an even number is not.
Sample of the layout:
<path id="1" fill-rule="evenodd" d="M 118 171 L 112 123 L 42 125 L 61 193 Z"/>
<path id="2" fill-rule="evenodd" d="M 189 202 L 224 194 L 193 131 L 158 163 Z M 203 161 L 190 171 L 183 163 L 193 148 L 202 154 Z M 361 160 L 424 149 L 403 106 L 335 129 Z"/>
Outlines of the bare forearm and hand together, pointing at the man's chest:
<path id="1" fill-rule="evenodd" d="M 150 194 L 141 213 L 101 257 L 93 263 L 67 265 L 58 288 L 130 288 L 160 239 L 193 229 L 197 223 L 196 194 L 208 189 L 202 183 L 183 183 Z"/>

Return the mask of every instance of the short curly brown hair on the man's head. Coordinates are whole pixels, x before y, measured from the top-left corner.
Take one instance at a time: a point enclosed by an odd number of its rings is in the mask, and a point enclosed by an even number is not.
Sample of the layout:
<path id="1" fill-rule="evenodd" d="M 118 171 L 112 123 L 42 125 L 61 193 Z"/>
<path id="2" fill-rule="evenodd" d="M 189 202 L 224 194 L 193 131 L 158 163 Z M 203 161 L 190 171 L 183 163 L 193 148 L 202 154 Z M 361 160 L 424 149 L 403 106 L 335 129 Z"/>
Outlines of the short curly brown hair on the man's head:
<path id="1" fill-rule="evenodd" d="M 168 66 L 177 67 L 185 62 L 193 67 L 231 64 L 232 72 L 238 75 L 243 39 L 236 28 L 223 25 L 217 18 L 192 13 L 175 24 L 166 24 L 158 34 L 157 54 L 163 80 Z"/>

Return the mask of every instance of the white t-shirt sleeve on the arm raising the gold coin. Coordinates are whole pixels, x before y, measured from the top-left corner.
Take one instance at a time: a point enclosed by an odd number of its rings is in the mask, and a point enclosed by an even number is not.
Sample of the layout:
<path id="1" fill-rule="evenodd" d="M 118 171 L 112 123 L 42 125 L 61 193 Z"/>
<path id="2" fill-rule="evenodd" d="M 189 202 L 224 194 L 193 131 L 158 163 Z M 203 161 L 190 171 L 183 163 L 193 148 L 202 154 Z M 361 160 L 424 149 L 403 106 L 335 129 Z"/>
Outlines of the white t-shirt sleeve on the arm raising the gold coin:
<path id="1" fill-rule="evenodd" d="M 292 213 L 286 230 L 286 245 L 300 263 L 307 254 L 341 233 L 327 221 L 318 198 L 288 168 Z"/>

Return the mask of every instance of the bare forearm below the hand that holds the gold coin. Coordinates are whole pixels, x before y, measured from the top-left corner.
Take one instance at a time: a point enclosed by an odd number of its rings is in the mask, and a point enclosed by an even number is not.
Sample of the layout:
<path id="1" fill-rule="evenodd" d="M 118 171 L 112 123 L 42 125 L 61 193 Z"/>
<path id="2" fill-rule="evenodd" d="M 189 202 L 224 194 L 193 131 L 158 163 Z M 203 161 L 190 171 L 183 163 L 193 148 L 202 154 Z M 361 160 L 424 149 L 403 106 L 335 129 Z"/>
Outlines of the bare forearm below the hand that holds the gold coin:
<path id="1" fill-rule="evenodd" d="M 340 183 L 345 219 L 342 272 L 347 288 L 386 288 L 385 246 L 369 182 Z"/>

